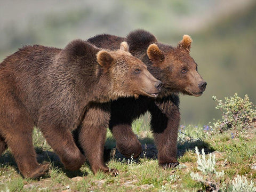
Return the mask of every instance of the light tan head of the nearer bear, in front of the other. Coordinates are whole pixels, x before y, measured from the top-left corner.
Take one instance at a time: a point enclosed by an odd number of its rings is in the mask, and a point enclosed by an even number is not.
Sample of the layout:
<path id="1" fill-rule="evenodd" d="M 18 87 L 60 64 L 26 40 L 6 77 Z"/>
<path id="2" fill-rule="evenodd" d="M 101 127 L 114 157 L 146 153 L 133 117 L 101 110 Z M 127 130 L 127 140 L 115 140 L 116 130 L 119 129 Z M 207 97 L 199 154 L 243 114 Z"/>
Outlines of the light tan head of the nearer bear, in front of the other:
<path id="1" fill-rule="evenodd" d="M 129 53 L 129 46 L 122 42 L 116 51 L 101 50 L 97 61 L 103 73 L 110 76 L 114 97 L 138 97 L 146 95 L 157 97 L 162 82 L 158 81 L 147 70 L 147 66 Z"/>

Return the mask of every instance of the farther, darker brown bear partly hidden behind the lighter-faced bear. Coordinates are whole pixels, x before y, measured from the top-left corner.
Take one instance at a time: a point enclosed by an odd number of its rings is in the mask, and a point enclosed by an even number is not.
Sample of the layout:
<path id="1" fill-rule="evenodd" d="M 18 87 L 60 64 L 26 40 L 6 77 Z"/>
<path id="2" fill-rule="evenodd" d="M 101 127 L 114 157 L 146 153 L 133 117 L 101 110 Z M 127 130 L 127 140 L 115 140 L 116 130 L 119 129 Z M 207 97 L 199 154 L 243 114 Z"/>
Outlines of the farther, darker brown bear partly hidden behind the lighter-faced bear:
<path id="1" fill-rule="evenodd" d="M 132 132 L 131 124 L 149 111 L 159 165 L 165 169 L 177 166 L 179 93 L 198 97 L 206 87 L 206 82 L 197 72 L 197 63 L 189 55 L 190 36 L 184 35 L 177 47 L 158 42 L 145 30 L 132 31 L 126 38 L 103 34 L 87 41 L 110 50 L 118 49 L 120 42 L 127 41 L 131 54 L 141 59 L 150 73 L 163 82 L 157 98 L 140 96 L 138 99 L 120 98 L 111 102 L 109 129 L 116 139 L 117 149 L 126 157 L 140 155 L 141 144 Z"/>

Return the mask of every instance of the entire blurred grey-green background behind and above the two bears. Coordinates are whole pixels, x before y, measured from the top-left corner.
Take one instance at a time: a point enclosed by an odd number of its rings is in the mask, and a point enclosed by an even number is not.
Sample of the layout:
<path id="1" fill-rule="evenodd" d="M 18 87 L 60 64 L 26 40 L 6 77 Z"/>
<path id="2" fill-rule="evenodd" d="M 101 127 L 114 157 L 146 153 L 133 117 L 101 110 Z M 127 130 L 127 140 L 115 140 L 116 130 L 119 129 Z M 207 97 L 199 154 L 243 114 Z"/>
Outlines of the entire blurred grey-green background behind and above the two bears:
<path id="1" fill-rule="evenodd" d="M 0 62 L 23 45 L 62 48 L 76 38 L 134 29 L 176 46 L 193 38 L 190 55 L 207 82 L 201 97 L 181 95 L 181 124 L 220 118 L 218 99 L 248 94 L 256 103 L 256 1 L 253 0 L 0 0 Z M 1 91 L 1 90 L 0 90 Z"/>

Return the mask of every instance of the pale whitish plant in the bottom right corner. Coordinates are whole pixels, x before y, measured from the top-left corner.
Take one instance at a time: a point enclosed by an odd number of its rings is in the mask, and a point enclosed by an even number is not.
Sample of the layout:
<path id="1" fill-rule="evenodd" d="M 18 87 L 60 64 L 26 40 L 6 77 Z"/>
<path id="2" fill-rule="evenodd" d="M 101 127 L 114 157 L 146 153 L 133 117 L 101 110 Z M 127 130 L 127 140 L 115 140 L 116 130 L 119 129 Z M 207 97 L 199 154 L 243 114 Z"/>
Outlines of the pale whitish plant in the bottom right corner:
<path id="1" fill-rule="evenodd" d="M 256 187 L 253 181 L 249 182 L 244 175 L 237 177 L 232 181 L 231 192 L 255 192 Z"/>

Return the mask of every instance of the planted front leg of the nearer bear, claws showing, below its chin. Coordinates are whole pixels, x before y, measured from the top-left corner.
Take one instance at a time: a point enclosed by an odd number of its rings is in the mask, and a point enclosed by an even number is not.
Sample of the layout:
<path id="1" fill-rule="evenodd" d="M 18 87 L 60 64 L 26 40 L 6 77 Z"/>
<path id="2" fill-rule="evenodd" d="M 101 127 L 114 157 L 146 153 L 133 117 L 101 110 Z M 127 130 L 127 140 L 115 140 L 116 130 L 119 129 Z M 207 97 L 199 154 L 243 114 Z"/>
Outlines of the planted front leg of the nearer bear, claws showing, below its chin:
<path id="1" fill-rule="evenodd" d="M 94 174 L 103 171 L 116 176 L 118 170 L 110 169 L 103 161 L 109 116 L 109 103 L 92 103 L 84 116 L 78 140 Z"/>

